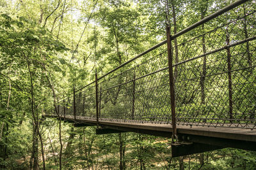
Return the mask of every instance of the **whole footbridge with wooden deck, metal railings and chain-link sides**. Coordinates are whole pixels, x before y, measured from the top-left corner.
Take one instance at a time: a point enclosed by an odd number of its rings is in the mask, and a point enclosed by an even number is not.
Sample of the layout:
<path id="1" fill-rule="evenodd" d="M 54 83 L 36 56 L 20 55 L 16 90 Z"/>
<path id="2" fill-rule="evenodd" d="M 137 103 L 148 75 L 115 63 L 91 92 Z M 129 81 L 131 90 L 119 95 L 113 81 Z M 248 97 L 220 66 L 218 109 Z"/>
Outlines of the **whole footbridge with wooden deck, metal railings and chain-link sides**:
<path id="1" fill-rule="evenodd" d="M 166 27 L 166 40 L 95 73 L 44 117 L 96 125 L 97 134 L 172 138 L 173 157 L 256 151 L 255 9 L 255 1 L 236 1 L 177 34 Z"/>

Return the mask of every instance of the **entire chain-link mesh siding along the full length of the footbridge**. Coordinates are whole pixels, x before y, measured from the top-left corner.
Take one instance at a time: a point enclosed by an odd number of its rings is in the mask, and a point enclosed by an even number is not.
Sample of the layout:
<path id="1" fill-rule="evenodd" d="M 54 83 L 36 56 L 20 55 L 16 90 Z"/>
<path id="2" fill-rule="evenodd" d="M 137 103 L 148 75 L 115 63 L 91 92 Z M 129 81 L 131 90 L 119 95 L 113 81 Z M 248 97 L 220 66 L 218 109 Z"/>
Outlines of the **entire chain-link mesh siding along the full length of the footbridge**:
<path id="1" fill-rule="evenodd" d="M 173 44 L 177 125 L 256 129 L 253 2 L 182 34 Z M 97 88 L 99 120 L 172 122 L 168 57 L 162 48 L 104 76 Z M 76 92 L 75 103 L 72 98 L 60 106 L 60 114 L 96 119 L 95 83 Z"/>

